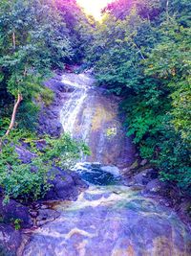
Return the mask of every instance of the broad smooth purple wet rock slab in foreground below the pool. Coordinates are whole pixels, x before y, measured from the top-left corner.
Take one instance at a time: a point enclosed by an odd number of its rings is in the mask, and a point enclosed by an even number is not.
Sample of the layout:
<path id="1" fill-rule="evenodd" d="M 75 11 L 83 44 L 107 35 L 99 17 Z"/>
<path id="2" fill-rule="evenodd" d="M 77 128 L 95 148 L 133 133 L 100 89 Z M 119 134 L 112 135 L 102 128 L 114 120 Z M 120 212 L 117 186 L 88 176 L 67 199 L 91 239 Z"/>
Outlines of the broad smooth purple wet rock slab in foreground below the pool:
<path id="1" fill-rule="evenodd" d="M 107 197 L 105 197 L 107 195 Z M 170 208 L 124 186 L 90 186 L 32 234 L 23 256 L 191 255 L 187 226 Z"/>

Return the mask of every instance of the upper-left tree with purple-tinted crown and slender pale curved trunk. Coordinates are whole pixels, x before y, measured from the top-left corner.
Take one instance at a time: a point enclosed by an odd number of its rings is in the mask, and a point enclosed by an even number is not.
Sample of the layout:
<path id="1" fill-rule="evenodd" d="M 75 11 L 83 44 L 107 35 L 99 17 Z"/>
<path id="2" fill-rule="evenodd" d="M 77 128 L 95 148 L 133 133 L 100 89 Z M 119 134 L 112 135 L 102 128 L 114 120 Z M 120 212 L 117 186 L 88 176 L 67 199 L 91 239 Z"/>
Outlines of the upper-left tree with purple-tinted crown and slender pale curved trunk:
<path id="1" fill-rule="evenodd" d="M 51 1 L 5 2 L 0 17 L 1 81 L 15 99 L 8 135 L 22 101 L 50 100 L 42 80 L 73 53 L 66 25 Z"/>

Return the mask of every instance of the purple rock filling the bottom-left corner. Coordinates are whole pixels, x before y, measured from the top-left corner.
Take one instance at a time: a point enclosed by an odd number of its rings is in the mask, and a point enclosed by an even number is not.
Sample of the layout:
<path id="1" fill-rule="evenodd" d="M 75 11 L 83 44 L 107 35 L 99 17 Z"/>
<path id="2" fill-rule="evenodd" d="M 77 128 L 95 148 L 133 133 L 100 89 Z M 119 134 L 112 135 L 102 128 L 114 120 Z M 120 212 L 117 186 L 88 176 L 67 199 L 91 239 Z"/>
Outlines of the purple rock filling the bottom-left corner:
<path id="1" fill-rule="evenodd" d="M 0 223 L 0 255 L 13 256 L 22 242 L 21 232 L 11 225 Z"/>

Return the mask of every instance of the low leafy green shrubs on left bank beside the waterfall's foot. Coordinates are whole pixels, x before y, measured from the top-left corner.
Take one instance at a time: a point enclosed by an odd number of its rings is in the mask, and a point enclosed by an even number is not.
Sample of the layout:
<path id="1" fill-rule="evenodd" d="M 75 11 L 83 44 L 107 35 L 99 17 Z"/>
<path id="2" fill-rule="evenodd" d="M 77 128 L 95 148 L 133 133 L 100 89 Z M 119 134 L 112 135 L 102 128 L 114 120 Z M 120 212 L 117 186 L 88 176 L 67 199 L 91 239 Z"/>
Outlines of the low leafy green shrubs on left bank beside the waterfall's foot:
<path id="1" fill-rule="evenodd" d="M 82 151 L 89 153 L 83 143 L 75 142 L 67 134 L 59 139 L 46 136 L 36 140 L 36 134 L 14 130 L 2 141 L 0 186 L 4 201 L 43 197 L 51 187 L 49 181 L 56 174 L 55 168 L 71 168 Z"/>

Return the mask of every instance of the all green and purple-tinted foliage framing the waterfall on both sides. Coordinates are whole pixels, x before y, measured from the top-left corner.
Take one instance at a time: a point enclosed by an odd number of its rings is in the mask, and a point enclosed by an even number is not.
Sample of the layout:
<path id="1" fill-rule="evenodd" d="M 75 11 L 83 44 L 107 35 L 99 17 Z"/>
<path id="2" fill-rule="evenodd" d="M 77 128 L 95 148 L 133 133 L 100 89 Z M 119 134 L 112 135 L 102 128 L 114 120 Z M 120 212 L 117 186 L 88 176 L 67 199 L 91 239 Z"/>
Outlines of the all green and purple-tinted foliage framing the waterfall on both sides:
<path id="1" fill-rule="evenodd" d="M 35 133 L 44 86 L 65 64 L 93 66 L 97 83 L 123 101 L 127 135 L 162 180 L 191 193 L 189 0 L 117 0 L 98 23 L 75 0 L 0 2 L 0 186 L 5 200 L 38 198 L 49 170 L 68 167 L 88 149 L 68 135 Z M 43 141 L 43 149 L 38 149 Z M 18 147 L 34 156 L 19 160 Z"/>

